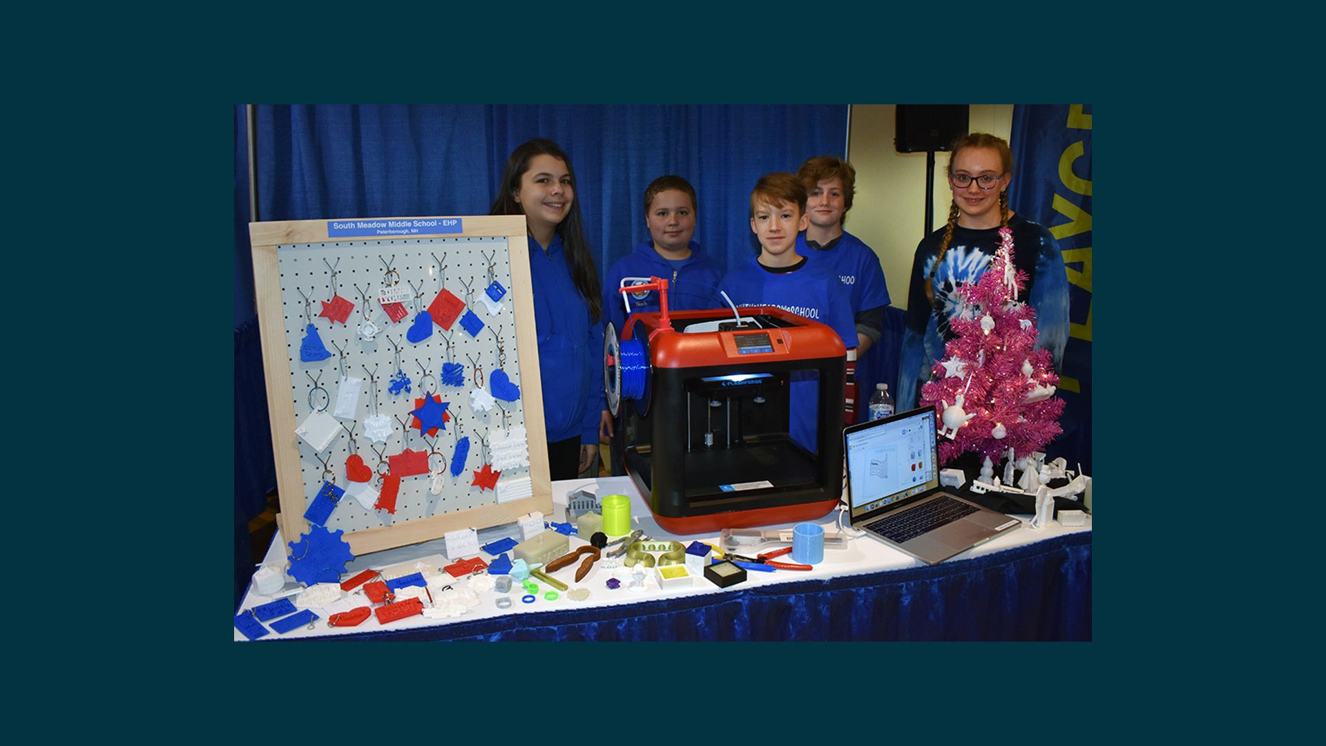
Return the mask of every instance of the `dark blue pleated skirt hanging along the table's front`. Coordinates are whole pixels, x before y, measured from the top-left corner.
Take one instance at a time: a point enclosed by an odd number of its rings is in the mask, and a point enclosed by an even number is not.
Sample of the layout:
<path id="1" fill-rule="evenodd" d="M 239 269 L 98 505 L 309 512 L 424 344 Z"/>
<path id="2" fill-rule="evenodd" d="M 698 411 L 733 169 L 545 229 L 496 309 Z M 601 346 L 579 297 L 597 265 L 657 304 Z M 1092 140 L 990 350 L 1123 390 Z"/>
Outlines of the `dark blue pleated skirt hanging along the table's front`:
<path id="1" fill-rule="evenodd" d="M 565 604 L 564 611 L 312 640 L 1089 641 L 1091 534 L 1069 534 L 935 567 L 630 605 Z M 375 627 L 375 620 L 363 624 Z"/>

